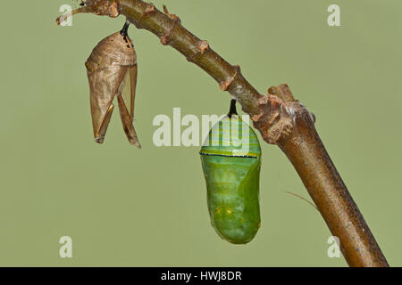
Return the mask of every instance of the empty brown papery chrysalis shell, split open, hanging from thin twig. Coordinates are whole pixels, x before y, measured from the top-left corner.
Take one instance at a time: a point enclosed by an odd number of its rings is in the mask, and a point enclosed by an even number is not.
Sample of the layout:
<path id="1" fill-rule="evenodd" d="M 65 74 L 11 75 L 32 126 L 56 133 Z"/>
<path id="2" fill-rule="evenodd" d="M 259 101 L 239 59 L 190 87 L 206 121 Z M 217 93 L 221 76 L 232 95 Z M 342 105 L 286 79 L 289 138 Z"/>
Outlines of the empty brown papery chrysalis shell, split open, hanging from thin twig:
<path id="1" fill-rule="evenodd" d="M 113 99 L 117 102 L 124 132 L 131 144 L 141 145 L 134 126 L 134 98 L 137 85 L 137 55 L 130 37 L 129 23 L 113 35 L 103 39 L 90 54 L 87 67 L 92 125 L 95 141 L 102 143 L 113 112 Z"/>

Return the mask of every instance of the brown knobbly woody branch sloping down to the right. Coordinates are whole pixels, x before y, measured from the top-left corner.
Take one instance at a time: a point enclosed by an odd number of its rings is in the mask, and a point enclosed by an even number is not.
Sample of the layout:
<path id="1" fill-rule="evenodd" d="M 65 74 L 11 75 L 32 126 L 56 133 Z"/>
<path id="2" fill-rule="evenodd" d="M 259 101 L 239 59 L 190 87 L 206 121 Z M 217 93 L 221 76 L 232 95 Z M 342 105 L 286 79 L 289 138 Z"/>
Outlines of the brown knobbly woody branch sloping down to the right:
<path id="1" fill-rule="evenodd" d="M 181 25 L 180 18 L 163 6 L 140 0 L 84 0 L 82 12 L 117 17 L 122 14 L 137 28 L 145 28 L 197 64 L 228 91 L 253 120 L 264 141 L 278 145 L 298 175 L 350 266 L 388 266 L 373 233 L 350 196 L 314 127 L 314 115 L 294 99 L 288 85 L 272 86 L 259 94 L 218 53 Z M 59 19 L 60 22 L 60 19 Z"/>

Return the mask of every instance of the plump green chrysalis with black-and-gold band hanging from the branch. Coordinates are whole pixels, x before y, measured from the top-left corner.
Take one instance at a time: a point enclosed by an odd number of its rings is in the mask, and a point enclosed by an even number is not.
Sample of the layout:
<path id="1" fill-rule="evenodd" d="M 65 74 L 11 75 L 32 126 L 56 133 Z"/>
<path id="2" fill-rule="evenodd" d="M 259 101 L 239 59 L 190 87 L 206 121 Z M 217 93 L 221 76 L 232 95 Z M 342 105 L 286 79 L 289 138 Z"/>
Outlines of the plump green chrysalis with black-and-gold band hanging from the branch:
<path id="1" fill-rule="evenodd" d="M 199 153 L 211 224 L 222 239 L 244 244 L 261 226 L 261 147 L 235 104 L 232 100 L 230 113 L 213 126 Z"/>

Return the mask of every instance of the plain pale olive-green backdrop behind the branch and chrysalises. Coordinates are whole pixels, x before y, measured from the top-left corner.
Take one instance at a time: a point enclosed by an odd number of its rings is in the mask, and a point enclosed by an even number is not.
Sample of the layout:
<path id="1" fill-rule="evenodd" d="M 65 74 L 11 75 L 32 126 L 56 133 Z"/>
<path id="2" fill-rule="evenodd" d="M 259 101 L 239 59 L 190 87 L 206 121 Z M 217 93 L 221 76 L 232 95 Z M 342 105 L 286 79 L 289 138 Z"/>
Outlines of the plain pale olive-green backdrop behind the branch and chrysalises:
<path id="1" fill-rule="evenodd" d="M 340 175 L 390 265 L 402 265 L 402 3 L 387 1 L 155 1 L 180 15 L 261 92 L 288 83 L 316 118 Z M 331 233 L 296 171 L 262 143 L 262 228 L 246 246 L 210 225 L 199 147 L 156 148 L 158 114 L 222 114 L 228 94 L 146 30 L 138 53 L 131 146 L 114 112 L 105 143 L 93 141 L 84 62 L 124 19 L 78 15 L 72 0 L 6 1 L 0 27 L 0 265 L 346 266 L 327 256 Z M 327 7 L 340 5 L 341 27 Z M 59 257 L 71 236 L 73 257 Z"/>

